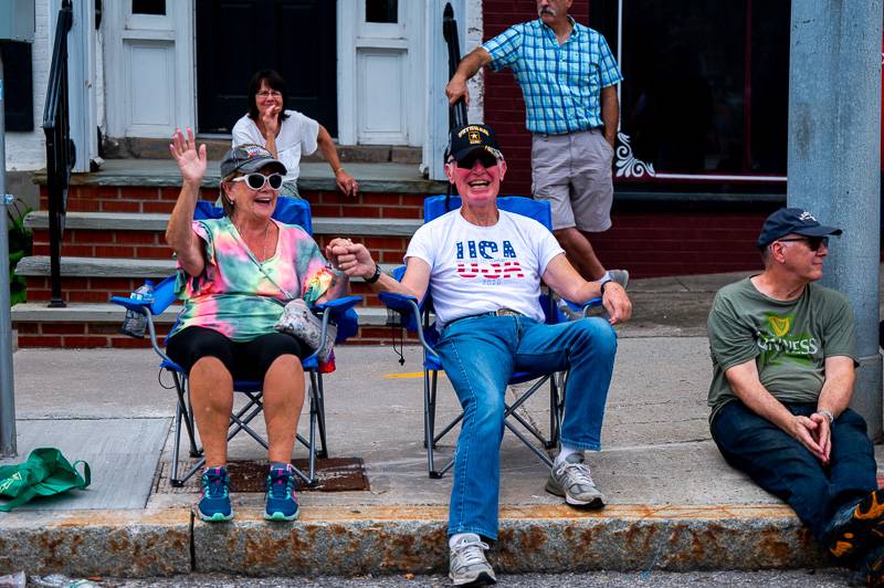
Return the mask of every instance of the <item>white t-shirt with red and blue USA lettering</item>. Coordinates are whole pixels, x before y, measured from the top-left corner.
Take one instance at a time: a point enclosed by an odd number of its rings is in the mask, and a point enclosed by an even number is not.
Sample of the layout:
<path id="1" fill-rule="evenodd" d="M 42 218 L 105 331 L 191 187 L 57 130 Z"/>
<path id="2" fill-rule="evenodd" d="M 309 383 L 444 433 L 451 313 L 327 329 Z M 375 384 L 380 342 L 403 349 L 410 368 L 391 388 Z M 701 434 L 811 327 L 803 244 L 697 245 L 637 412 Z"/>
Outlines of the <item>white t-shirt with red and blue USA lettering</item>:
<path id="1" fill-rule="evenodd" d="M 406 252 L 430 265 L 430 295 L 442 329 L 462 316 L 511 308 L 544 321 L 538 296 L 547 264 L 564 253 L 534 219 L 499 211 L 478 227 L 452 210 L 418 229 Z"/>

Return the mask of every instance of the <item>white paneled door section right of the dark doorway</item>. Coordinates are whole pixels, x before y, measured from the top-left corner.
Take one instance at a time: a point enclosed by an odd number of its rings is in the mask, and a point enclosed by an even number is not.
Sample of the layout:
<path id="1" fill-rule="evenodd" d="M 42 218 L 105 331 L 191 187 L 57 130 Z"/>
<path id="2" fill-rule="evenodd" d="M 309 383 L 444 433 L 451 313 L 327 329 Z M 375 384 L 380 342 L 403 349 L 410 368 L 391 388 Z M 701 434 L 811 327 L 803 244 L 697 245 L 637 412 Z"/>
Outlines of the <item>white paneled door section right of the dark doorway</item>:
<path id="1" fill-rule="evenodd" d="M 338 139 L 423 144 L 424 2 L 338 0 Z"/>

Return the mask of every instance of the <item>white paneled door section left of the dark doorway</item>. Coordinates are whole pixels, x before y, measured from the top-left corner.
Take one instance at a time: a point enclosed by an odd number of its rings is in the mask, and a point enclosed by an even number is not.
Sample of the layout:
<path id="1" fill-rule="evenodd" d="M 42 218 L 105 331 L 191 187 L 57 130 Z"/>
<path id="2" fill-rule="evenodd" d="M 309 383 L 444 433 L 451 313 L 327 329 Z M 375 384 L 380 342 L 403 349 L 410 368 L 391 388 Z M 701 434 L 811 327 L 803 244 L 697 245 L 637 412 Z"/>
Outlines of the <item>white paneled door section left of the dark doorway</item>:
<path id="1" fill-rule="evenodd" d="M 104 2 L 110 137 L 170 137 L 194 126 L 192 0 Z"/>

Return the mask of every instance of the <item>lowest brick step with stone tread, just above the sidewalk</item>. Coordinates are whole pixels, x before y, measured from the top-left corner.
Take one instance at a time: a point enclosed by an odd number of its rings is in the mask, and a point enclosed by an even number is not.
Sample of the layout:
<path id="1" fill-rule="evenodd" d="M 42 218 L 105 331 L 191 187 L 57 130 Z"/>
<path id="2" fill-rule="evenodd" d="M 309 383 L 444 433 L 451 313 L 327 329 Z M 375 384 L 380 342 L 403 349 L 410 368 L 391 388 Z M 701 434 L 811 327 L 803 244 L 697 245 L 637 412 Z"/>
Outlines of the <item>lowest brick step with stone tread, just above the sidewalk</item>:
<path id="1" fill-rule="evenodd" d="M 157 317 L 159 335 L 168 333 L 180 311 L 180 305 L 172 305 Z M 125 312 L 122 306 L 108 302 L 70 303 L 63 308 L 28 302 L 13 306 L 11 314 L 20 348 L 149 347 L 148 339 L 134 339 L 119 334 Z M 360 307 L 356 308 L 356 313 L 359 316 L 359 333 L 348 343 L 386 344 L 392 340 L 391 329 L 385 326 L 385 308 Z"/>

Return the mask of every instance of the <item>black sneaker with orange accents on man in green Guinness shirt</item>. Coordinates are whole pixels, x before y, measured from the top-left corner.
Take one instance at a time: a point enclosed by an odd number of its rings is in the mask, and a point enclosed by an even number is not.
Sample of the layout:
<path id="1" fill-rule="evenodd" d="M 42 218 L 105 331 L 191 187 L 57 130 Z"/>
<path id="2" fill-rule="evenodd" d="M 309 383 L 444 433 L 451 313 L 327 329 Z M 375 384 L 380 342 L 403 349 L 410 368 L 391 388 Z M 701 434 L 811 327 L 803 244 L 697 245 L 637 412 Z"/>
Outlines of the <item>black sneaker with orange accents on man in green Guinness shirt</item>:
<path id="1" fill-rule="evenodd" d="M 852 506 L 841 508 L 825 531 L 827 547 L 838 563 L 848 563 L 871 544 L 884 540 L 884 490 L 876 490 Z"/>

